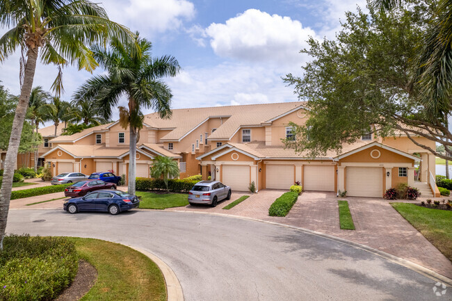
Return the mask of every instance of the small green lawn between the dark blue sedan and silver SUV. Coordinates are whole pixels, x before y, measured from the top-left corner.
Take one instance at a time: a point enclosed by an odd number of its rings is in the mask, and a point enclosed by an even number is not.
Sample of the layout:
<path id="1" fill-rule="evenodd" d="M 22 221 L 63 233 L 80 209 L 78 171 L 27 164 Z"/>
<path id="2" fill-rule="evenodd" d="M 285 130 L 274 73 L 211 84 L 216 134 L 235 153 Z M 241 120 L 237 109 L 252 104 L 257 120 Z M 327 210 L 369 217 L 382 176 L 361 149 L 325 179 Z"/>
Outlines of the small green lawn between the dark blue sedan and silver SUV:
<path id="1" fill-rule="evenodd" d="M 137 191 L 140 197 L 140 209 L 166 209 L 188 205 L 188 195 L 185 193 L 150 193 Z"/>

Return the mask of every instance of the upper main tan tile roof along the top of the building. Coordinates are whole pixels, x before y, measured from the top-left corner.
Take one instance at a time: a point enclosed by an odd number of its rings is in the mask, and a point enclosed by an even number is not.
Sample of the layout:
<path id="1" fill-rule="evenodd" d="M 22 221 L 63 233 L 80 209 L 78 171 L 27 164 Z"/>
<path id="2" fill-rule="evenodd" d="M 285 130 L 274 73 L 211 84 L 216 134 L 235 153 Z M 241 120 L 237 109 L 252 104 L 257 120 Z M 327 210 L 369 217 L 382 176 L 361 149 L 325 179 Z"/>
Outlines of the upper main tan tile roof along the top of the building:
<path id="1" fill-rule="evenodd" d="M 282 115 L 306 102 L 283 102 L 276 104 L 250 104 L 243 106 L 214 106 L 210 108 L 180 108 L 172 110 L 169 120 L 162 120 L 158 113 L 145 115 L 145 124 L 158 129 L 173 129 L 162 140 L 179 140 L 186 133 L 209 117 L 229 117 L 221 127 L 211 133 L 209 139 L 230 138 L 241 126 L 259 125 Z"/>

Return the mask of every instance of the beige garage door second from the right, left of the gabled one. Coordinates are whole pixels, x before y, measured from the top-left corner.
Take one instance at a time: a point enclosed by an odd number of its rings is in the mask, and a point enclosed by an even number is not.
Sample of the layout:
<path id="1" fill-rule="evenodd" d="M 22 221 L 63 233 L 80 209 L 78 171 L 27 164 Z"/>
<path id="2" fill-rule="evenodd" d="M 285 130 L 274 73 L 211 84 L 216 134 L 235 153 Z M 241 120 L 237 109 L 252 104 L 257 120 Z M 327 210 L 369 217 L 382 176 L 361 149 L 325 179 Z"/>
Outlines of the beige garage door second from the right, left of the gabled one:
<path id="1" fill-rule="evenodd" d="M 334 191 L 334 165 L 305 165 L 303 189 Z"/>

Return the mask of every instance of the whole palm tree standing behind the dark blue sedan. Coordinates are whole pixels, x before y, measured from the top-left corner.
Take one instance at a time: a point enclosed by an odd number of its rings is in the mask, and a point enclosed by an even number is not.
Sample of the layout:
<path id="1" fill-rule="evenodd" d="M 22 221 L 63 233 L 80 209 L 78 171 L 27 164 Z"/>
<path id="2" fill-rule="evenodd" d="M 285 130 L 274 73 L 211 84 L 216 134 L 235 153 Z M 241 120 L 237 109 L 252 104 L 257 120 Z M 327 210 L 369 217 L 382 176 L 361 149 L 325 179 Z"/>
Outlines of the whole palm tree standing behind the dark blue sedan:
<path id="1" fill-rule="evenodd" d="M 138 33 L 137 33 L 138 35 Z M 152 45 L 137 38 L 141 56 L 133 55 L 131 44 L 121 44 L 113 39 L 109 49 L 99 45 L 91 48 L 97 63 L 108 74 L 88 79 L 74 94 L 74 100 L 90 101 L 102 109 L 102 117 L 111 119 L 112 109 L 122 95 L 127 97 L 128 108 L 120 106 L 120 124 L 129 128 L 129 193 L 135 193 L 136 143 L 143 128 L 143 108 L 152 108 L 160 117 L 170 117 L 171 90 L 161 78 L 176 76 L 180 67 L 172 56 L 153 58 Z M 138 139 L 137 139 L 138 136 Z"/>

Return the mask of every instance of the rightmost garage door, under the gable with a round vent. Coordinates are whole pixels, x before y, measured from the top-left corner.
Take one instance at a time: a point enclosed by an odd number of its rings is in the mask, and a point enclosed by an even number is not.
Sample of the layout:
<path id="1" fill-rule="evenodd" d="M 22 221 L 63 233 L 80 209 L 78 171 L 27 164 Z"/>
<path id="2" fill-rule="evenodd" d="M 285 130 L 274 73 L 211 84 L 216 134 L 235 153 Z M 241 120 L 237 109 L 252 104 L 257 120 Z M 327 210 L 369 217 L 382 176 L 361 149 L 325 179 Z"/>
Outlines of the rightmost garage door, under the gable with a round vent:
<path id="1" fill-rule="evenodd" d="M 382 197 L 382 168 L 346 167 L 346 190 L 350 197 Z"/>

